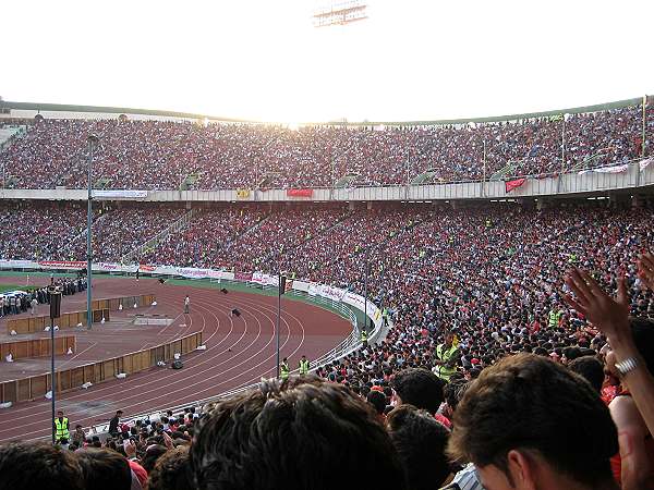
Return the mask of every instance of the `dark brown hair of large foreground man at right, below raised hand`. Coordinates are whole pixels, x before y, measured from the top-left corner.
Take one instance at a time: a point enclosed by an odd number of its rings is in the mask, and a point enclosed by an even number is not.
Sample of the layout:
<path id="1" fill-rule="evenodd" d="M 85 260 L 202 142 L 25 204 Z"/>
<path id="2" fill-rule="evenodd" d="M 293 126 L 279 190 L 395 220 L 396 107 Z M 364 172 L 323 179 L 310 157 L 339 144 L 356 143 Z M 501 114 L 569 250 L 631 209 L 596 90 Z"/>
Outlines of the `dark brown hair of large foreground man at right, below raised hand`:
<path id="1" fill-rule="evenodd" d="M 591 487 L 610 481 L 618 436 L 593 388 L 564 366 L 534 354 L 484 369 L 455 413 L 449 453 L 508 478 L 507 454 L 534 451 L 559 474 Z"/>

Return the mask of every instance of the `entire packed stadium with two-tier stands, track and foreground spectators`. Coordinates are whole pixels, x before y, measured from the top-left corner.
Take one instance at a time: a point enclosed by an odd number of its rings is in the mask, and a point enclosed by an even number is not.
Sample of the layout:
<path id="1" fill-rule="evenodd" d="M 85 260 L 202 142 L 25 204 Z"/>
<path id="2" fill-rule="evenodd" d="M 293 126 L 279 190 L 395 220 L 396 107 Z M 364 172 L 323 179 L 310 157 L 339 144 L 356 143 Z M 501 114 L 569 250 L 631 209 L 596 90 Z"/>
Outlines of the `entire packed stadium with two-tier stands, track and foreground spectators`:
<path id="1" fill-rule="evenodd" d="M 633 95 L 293 124 L 0 99 L 0 479 L 654 488 Z"/>

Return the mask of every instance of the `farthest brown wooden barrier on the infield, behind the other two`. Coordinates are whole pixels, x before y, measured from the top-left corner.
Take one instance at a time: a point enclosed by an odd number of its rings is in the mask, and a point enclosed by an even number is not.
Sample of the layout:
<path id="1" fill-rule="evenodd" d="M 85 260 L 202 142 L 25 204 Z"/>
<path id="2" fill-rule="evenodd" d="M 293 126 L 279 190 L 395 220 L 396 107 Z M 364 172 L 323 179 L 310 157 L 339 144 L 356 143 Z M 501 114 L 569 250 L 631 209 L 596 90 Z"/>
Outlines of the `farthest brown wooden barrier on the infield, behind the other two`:
<path id="1" fill-rule="evenodd" d="M 99 323 L 102 321 L 102 318 L 105 318 L 105 321 L 109 321 L 111 317 L 110 311 L 119 311 L 120 305 L 123 305 L 123 308 L 133 308 L 134 305 L 141 308 L 150 306 L 155 301 L 156 297 L 153 294 L 94 299 L 92 302 L 93 322 Z M 86 327 L 86 310 L 62 314 L 61 317 L 55 320 L 55 324 L 58 326 L 59 329 L 70 329 L 80 323 L 82 323 L 83 327 Z M 16 334 L 43 332 L 48 326 L 50 326 L 49 316 L 16 318 L 7 320 L 7 333 L 11 334 L 12 331 L 16 332 Z"/>

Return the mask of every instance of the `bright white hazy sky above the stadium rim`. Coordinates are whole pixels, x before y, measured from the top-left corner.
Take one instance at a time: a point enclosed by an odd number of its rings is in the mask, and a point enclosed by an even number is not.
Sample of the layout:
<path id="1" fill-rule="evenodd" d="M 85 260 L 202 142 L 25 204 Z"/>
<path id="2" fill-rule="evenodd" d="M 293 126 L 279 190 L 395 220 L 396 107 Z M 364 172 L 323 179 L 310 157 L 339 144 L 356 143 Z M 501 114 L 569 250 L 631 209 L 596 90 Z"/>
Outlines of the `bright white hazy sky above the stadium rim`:
<path id="1" fill-rule="evenodd" d="M 5 100 L 284 122 L 499 115 L 654 94 L 654 1 L 14 0 Z M 338 0 L 337 0 L 338 3 Z"/>

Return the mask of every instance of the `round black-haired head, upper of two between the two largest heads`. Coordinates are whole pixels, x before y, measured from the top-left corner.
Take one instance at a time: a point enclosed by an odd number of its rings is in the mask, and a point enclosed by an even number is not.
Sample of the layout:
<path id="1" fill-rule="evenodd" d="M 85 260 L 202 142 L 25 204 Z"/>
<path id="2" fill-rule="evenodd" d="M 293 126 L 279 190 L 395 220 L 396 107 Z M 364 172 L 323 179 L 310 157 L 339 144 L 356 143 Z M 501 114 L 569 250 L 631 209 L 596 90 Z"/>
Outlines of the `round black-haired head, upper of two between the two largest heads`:
<path id="1" fill-rule="evenodd" d="M 422 368 L 409 368 L 398 372 L 392 388 L 402 403 L 408 403 L 434 415 L 445 400 L 445 383 L 432 371 Z"/>

